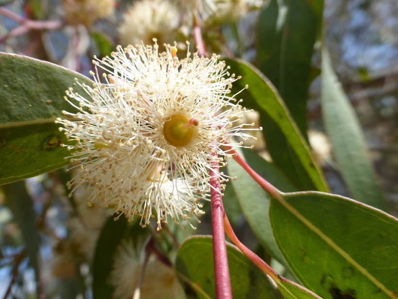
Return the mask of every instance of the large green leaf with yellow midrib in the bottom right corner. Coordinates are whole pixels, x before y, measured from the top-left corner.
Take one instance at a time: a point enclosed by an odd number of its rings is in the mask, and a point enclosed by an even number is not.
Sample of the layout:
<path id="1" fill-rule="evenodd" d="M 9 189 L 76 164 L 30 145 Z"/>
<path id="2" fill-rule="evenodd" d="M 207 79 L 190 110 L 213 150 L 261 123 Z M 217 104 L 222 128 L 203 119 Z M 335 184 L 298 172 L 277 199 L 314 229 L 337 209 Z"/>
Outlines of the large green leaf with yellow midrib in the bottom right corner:
<path id="1" fill-rule="evenodd" d="M 296 277 L 324 299 L 397 298 L 398 220 L 319 192 L 271 198 L 270 220 Z"/>

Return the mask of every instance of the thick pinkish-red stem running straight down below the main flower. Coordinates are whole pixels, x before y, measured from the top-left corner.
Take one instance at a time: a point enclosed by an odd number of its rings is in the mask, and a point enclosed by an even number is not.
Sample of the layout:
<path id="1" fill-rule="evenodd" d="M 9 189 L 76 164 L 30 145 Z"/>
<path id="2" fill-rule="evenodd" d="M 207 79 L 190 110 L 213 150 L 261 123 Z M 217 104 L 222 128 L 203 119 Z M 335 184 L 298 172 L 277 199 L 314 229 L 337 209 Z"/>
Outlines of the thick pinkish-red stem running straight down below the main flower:
<path id="1" fill-rule="evenodd" d="M 214 155 L 218 158 L 217 154 Z M 216 298 L 232 299 L 230 271 L 228 268 L 227 247 L 223 224 L 224 206 L 218 175 L 218 161 L 213 162 L 210 170 L 210 195 L 212 204 L 213 255 L 216 282 Z"/>

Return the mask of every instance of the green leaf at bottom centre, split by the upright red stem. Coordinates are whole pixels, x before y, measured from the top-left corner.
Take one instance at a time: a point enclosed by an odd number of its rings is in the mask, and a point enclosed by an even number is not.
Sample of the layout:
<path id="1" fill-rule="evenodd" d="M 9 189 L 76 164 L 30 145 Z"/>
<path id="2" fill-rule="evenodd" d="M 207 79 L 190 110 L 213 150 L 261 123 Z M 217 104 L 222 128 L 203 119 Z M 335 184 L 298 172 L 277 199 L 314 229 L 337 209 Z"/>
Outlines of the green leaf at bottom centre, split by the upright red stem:
<path id="1" fill-rule="evenodd" d="M 282 295 L 266 277 L 252 264 L 239 249 L 227 244 L 233 298 L 239 299 L 282 299 Z M 213 241 L 211 236 L 187 238 L 177 251 L 177 271 L 201 286 L 199 298 L 216 298 L 213 261 Z"/>

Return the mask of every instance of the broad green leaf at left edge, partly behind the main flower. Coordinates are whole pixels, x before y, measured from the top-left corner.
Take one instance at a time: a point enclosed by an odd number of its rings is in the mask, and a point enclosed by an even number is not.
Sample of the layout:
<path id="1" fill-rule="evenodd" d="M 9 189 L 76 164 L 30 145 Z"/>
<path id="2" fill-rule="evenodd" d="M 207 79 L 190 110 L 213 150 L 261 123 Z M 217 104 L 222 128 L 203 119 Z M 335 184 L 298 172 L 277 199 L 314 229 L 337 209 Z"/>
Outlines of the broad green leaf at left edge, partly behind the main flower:
<path id="1" fill-rule="evenodd" d="M 49 62 L 0 53 L 0 184 L 63 167 L 69 162 L 65 136 L 54 123 L 62 110 L 74 112 L 65 90 L 93 82 Z"/>

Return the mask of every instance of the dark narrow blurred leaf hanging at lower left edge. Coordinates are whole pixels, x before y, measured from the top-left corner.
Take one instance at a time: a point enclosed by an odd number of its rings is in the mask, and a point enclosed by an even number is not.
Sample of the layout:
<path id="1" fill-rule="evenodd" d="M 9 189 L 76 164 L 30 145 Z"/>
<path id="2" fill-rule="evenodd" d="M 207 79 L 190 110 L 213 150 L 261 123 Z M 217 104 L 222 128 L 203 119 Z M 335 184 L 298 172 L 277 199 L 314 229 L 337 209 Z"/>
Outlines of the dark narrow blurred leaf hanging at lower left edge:
<path id="1" fill-rule="evenodd" d="M 4 185 L 2 189 L 6 204 L 13 212 L 15 221 L 21 230 L 29 256 L 29 265 L 34 269 L 35 280 L 38 283 L 40 277 L 38 268 L 40 236 L 37 230 L 32 198 L 26 190 L 24 181 Z M 36 291 L 39 295 L 39 291 L 37 289 Z"/>

